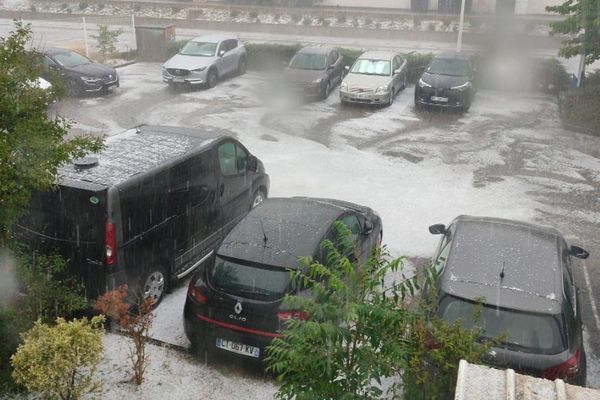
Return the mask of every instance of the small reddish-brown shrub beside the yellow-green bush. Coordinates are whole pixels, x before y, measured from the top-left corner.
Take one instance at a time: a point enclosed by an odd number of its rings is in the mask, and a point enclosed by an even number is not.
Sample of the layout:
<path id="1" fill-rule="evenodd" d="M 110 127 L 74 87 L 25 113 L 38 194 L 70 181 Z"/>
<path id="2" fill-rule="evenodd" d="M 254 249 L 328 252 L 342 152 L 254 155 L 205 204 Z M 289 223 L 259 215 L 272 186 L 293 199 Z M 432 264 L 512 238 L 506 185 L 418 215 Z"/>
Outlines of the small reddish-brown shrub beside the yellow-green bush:
<path id="1" fill-rule="evenodd" d="M 133 346 L 129 348 L 129 361 L 133 370 L 132 380 L 136 385 L 144 381 L 144 372 L 149 363 L 146 344 L 148 333 L 152 327 L 152 299 L 137 296 L 136 304 L 132 307 L 127 303 L 127 285 L 112 290 L 100 296 L 94 309 L 119 322 L 121 329 L 129 334 Z"/>

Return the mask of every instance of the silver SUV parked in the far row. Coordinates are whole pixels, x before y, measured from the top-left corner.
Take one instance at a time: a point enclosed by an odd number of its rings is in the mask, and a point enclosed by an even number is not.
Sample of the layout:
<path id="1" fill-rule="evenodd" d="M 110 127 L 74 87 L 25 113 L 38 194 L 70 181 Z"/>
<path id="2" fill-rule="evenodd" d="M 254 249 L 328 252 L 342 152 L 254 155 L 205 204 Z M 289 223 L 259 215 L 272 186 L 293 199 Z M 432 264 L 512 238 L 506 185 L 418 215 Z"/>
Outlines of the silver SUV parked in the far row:
<path id="1" fill-rule="evenodd" d="M 163 64 L 162 77 L 170 85 L 212 88 L 225 75 L 244 74 L 246 60 L 246 48 L 236 36 L 200 36 Z"/>

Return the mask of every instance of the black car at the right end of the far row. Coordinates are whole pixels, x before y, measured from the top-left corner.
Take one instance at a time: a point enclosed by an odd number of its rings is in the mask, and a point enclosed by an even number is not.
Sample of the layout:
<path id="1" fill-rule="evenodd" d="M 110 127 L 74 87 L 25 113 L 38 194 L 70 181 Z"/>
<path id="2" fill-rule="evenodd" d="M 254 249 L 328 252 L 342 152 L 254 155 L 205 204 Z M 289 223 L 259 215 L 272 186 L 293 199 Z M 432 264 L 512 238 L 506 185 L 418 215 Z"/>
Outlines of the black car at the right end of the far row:
<path id="1" fill-rule="evenodd" d="M 438 106 L 467 111 L 476 91 L 475 57 L 443 53 L 431 60 L 415 85 L 415 107 Z"/>

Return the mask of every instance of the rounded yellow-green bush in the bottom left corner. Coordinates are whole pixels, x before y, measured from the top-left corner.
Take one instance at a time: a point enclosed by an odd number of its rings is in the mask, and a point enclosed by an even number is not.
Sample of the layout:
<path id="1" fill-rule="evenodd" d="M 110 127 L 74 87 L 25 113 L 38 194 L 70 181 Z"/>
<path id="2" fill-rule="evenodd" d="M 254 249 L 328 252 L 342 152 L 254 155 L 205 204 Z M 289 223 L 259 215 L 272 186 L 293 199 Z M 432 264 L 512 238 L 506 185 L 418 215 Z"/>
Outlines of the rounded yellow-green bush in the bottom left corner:
<path id="1" fill-rule="evenodd" d="M 100 389 L 94 378 L 104 350 L 104 317 L 50 326 L 38 321 L 11 357 L 13 378 L 50 399 L 78 400 Z"/>

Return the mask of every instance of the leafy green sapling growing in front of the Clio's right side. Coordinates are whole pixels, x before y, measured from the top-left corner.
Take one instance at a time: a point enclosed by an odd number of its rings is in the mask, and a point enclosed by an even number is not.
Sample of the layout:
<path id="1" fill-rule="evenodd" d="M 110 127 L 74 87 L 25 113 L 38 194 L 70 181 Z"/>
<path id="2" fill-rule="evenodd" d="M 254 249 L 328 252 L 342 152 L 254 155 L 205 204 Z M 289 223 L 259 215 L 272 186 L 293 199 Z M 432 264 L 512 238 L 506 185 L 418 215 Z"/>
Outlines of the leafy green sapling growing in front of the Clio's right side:
<path id="1" fill-rule="evenodd" d="M 479 361 L 489 344 L 474 341 L 476 330 L 466 332 L 458 324 L 431 318 L 428 306 L 413 301 L 420 279 L 435 282 L 434 268 L 420 278 L 405 278 L 403 258 L 390 260 L 385 249 L 360 264 L 349 230 L 341 223 L 334 229 L 337 244 L 322 244 L 325 263 L 303 258 L 291 273 L 298 291 L 286 296 L 285 304 L 294 311 L 282 336 L 266 350 L 267 368 L 282 383 L 277 398 L 379 399 L 385 377 L 396 379 L 394 393 L 404 390 L 414 396 L 406 398 L 451 393 L 458 360 Z M 402 279 L 389 282 L 391 275 Z M 425 354 L 436 343 L 443 346 Z M 439 380 L 435 387 L 427 387 L 429 378 Z"/>

